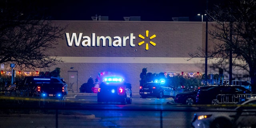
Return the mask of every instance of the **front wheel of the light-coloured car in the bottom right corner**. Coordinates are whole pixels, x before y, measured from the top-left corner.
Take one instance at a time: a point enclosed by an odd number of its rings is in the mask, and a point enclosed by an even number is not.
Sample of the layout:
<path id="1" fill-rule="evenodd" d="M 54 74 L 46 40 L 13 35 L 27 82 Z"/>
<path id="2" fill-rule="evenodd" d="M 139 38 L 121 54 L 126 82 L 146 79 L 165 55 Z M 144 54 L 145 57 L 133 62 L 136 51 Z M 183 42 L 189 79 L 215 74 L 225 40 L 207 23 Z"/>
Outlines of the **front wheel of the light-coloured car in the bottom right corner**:
<path id="1" fill-rule="evenodd" d="M 231 128 L 232 124 L 225 118 L 219 118 L 212 122 L 210 128 Z"/>

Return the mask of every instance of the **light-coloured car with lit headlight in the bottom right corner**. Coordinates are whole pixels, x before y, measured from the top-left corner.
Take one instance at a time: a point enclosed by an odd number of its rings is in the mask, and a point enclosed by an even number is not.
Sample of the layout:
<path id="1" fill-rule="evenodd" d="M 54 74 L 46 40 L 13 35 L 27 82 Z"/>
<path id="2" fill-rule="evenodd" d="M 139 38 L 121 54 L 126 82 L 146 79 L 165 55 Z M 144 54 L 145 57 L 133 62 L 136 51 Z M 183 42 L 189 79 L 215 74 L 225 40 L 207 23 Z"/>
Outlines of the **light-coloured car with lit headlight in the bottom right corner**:
<path id="1" fill-rule="evenodd" d="M 256 98 L 240 102 L 236 108 L 214 109 L 194 114 L 193 128 L 255 128 Z M 244 106 L 243 106 L 244 105 Z M 215 111 L 216 110 L 216 111 Z"/>

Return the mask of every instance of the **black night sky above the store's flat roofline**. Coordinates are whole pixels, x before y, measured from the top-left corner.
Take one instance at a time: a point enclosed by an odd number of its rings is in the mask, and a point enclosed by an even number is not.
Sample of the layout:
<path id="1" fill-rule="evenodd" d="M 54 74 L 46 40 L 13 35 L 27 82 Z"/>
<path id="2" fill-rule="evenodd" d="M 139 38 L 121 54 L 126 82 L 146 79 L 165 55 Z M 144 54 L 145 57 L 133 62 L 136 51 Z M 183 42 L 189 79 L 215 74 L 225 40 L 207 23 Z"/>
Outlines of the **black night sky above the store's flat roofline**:
<path id="1" fill-rule="evenodd" d="M 208 0 L 208 9 L 220 0 Z M 39 4 L 52 20 L 92 20 L 91 16 L 140 16 L 142 21 L 172 21 L 172 17 L 189 17 L 200 21 L 198 13 L 206 10 L 206 0 L 46 0 Z"/>

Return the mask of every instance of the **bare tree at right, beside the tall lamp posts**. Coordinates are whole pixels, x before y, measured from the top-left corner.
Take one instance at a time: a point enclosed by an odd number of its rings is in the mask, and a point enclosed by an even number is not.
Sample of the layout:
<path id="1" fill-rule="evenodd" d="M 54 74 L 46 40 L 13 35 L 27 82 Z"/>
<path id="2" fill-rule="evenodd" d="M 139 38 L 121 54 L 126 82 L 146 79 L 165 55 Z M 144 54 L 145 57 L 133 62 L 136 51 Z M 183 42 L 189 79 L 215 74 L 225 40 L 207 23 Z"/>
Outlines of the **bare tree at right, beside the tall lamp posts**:
<path id="1" fill-rule="evenodd" d="M 218 64 L 222 65 L 233 58 L 234 67 L 248 70 L 252 91 L 256 92 L 256 1 L 230 0 L 216 5 L 207 15 L 216 23 L 214 29 L 208 30 L 215 39 L 214 50 L 208 51 L 208 59 L 218 59 Z M 190 53 L 190 56 L 205 57 L 203 50 Z"/>

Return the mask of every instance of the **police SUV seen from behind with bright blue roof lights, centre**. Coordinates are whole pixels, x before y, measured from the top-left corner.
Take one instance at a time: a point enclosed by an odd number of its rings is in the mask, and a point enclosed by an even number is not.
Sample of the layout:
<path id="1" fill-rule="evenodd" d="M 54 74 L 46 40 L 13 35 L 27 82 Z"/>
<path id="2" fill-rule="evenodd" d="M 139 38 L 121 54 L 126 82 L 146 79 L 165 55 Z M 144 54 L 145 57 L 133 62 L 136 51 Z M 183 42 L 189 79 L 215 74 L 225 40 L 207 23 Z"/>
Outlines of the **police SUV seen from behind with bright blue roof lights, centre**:
<path id="1" fill-rule="evenodd" d="M 119 102 L 121 104 L 131 104 L 132 88 L 120 77 L 107 77 L 100 83 L 97 98 L 98 103 Z"/>

